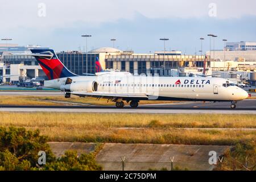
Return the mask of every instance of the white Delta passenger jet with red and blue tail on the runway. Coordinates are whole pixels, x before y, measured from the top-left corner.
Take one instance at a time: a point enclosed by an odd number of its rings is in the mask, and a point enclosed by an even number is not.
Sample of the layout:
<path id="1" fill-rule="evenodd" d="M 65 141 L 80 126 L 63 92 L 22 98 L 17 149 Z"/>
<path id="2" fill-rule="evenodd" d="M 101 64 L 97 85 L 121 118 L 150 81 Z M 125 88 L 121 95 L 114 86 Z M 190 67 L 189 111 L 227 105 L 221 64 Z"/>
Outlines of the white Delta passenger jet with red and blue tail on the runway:
<path id="1" fill-rule="evenodd" d="M 244 100 L 248 93 L 229 80 L 217 77 L 151 77 L 123 75 L 79 76 L 61 63 L 52 49 L 31 49 L 48 77 L 44 86 L 59 89 L 65 98 L 106 98 L 121 108 L 125 102 L 136 108 L 141 100 L 231 102 Z"/>

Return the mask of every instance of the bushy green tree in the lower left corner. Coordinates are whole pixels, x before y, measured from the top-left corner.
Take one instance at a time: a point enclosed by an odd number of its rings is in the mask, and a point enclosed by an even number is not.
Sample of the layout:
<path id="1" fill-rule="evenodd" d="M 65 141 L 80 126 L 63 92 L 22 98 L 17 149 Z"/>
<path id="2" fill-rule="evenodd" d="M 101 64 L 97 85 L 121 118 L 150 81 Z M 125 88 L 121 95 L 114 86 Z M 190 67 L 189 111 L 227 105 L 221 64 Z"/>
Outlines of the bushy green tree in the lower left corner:
<path id="1" fill-rule="evenodd" d="M 0 127 L 0 170 L 101 170 L 95 155 L 66 151 L 56 159 L 47 144 L 48 137 L 39 130 Z M 38 152 L 46 152 L 46 165 L 38 164 Z"/>

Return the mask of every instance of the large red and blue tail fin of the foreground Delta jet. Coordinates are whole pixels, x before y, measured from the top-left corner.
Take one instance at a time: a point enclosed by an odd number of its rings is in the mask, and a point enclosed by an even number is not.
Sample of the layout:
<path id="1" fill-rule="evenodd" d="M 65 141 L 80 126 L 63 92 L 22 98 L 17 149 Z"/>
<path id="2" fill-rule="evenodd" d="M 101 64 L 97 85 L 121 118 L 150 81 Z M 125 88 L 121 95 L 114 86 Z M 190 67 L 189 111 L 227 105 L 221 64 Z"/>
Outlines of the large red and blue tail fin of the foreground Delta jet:
<path id="1" fill-rule="evenodd" d="M 49 80 L 78 76 L 70 72 L 52 49 L 30 49 Z"/>

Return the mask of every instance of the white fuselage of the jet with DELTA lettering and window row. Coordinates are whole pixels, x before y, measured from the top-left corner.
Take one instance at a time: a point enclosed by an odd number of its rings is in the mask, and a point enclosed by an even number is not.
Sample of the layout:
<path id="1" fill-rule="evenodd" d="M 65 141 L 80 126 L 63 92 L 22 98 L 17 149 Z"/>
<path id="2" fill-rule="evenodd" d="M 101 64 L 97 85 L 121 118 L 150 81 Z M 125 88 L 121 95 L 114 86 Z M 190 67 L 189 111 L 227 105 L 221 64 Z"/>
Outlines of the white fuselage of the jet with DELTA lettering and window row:
<path id="1" fill-rule="evenodd" d="M 231 82 L 224 78 L 111 75 L 70 78 L 72 82 L 96 81 L 97 92 L 145 93 L 148 100 L 240 101 L 248 97 L 245 90 L 230 85 Z M 45 81 L 45 86 L 60 89 L 66 80 L 67 78 L 58 78 Z"/>

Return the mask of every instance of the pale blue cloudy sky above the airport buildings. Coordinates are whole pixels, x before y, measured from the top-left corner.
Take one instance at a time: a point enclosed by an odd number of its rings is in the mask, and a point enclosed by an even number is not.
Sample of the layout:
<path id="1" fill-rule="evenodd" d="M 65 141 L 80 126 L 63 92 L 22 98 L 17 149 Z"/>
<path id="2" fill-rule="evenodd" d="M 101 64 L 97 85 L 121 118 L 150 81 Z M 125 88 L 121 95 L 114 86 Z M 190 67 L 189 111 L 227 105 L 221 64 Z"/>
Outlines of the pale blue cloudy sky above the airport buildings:
<path id="1" fill-rule="evenodd" d="M 229 42 L 256 42 L 255 0 L 0 0 L 0 38 L 9 43 L 50 47 L 55 51 L 112 47 L 137 53 L 209 50 L 207 34 Z"/>

